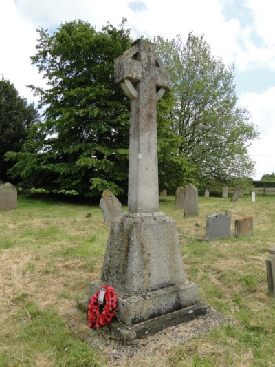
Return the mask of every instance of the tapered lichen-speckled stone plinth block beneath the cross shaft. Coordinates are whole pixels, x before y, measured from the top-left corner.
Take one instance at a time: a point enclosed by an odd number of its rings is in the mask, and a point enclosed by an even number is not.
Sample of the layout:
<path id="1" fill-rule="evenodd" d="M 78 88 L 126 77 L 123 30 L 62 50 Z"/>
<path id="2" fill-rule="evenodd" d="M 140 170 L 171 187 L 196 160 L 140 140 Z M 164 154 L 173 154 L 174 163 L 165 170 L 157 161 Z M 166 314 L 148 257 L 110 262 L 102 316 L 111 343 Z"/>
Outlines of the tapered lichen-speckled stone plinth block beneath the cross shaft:
<path id="1" fill-rule="evenodd" d="M 175 220 L 164 213 L 113 220 L 101 279 L 129 295 L 185 282 Z"/>

